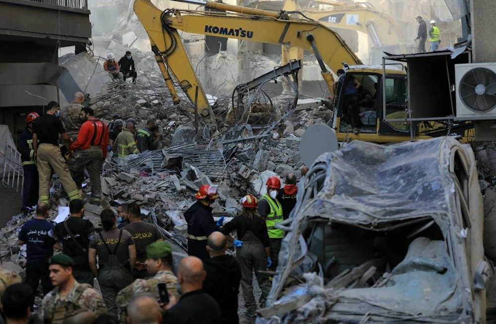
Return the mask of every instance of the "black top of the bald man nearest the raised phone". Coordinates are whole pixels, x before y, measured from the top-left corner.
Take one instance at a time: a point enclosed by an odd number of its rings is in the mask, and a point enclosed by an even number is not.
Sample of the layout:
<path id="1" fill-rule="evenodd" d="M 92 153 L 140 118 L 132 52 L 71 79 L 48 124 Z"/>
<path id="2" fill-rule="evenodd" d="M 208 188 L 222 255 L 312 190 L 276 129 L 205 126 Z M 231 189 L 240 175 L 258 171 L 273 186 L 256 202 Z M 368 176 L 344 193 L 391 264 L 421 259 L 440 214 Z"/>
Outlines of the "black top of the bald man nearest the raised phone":
<path id="1" fill-rule="evenodd" d="M 218 324 L 221 320 L 220 308 L 215 299 L 195 290 L 184 294 L 179 302 L 168 310 L 163 324 Z"/>

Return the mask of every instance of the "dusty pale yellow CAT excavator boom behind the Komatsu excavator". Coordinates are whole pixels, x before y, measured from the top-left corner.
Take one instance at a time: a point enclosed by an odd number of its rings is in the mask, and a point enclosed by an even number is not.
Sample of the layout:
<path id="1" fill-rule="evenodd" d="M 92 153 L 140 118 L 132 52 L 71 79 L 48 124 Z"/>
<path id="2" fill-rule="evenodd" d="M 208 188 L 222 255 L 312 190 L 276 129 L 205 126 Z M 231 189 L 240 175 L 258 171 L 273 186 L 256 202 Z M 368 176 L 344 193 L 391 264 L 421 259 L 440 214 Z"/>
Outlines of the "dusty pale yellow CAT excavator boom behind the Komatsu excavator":
<path id="1" fill-rule="evenodd" d="M 367 34 L 372 43 L 369 59 L 371 64 L 382 64 L 384 52 L 391 54 L 417 52 L 417 45 L 407 42 L 407 37 L 396 20 L 387 13 L 376 10 L 369 2 L 316 0 L 312 3 L 329 5 L 329 7 L 303 7 L 297 0 L 286 0 L 282 9 L 293 13 L 294 17 L 303 16 L 319 21 L 330 29 L 342 28 Z"/>

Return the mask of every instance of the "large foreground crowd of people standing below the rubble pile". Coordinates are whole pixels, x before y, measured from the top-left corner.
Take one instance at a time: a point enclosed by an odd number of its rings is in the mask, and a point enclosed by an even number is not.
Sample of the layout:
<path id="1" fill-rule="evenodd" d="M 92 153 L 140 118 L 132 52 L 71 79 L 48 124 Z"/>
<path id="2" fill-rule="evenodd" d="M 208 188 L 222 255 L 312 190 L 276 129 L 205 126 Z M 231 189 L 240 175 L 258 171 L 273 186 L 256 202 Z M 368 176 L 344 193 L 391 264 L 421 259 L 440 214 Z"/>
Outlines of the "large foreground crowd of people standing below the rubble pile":
<path id="1" fill-rule="evenodd" d="M 303 175 L 307 171 L 302 168 Z M 240 284 L 246 316 L 256 317 L 277 270 L 284 231 L 276 224 L 292 216 L 298 191 L 294 173 L 282 188 L 276 176 L 266 186 L 258 201 L 251 194 L 243 197 L 243 212 L 225 224 L 224 216 L 214 221 L 210 207 L 218 187 L 201 186 L 185 212 L 189 256 L 177 273 L 171 244 L 142 220 L 137 203 L 123 204 L 117 213 L 103 210 L 102 228 L 83 218 L 81 199 L 71 200 L 70 215 L 55 225 L 47 219 L 49 205 L 38 203 L 36 217 L 18 234 L 18 244 L 27 245 L 26 279 L 3 293 L 2 305 L 16 304 L 3 311 L 3 319 L 36 323 L 32 312 L 38 309 L 39 320 L 53 324 L 239 323 Z M 235 230 L 237 239 L 230 235 Z M 236 258 L 226 253 L 229 242 Z M 261 290 L 258 301 L 253 274 Z M 40 282 L 44 297 L 36 308 Z"/>

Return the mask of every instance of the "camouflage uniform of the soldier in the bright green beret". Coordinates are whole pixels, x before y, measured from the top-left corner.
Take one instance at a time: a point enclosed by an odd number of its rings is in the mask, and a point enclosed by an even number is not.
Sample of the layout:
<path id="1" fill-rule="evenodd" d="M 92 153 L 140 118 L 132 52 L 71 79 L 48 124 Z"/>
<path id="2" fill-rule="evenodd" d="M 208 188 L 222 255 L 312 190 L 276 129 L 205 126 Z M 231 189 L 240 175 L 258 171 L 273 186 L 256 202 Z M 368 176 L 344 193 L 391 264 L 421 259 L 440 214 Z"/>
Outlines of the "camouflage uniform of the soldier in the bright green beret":
<path id="1" fill-rule="evenodd" d="M 123 310 L 121 313 L 121 322 L 125 323 L 126 307 L 129 304 L 129 300 L 131 297 L 138 292 L 150 292 L 153 296 L 159 297 L 157 283 L 165 283 L 167 284 L 167 291 L 172 293 L 176 300 L 179 300 L 181 297 L 178 294 L 176 284 L 178 282 L 178 278 L 172 273 L 170 270 L 160 270 L 155 274 L 155 276 L 149 279 L 136 279 L 133 283 L 125 287 L 123 290 L 117 294 L 116 303 L 119 308 Z"/>

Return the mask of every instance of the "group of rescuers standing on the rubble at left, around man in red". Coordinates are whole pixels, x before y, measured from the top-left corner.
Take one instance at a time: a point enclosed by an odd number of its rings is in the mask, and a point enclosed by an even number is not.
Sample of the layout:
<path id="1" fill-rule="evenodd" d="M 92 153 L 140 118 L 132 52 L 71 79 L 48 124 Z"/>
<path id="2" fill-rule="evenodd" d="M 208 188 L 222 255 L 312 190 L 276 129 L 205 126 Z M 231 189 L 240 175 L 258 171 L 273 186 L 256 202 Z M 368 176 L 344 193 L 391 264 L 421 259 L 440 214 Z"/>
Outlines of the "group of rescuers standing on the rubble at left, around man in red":
<path id="1" fill-rule="evenodd" d="M 33 111 L 26 116 L 26 129 L 19 136 L 17 147 L 25 175 L 21 207 L 24 215 L 37 202 L 50 204 L 50 180 L 54 173 L 72 201 L 83 197 L 86 171 L 91 184 L 89 203 L 100 205 L 100 174 L 108 152 L 120 159 L 159 148 L 162 136 L 154 119 L 148 119 L 145 127 L 137 130 L 133 118 L 125 123 L 117 119 L 109 130 L 94 116 L 93 109 L 83 103 L 84 95 L 77 92 L 62 112 L 57 102 L 50 102 L 45 114 L 40 116 Z"/>

